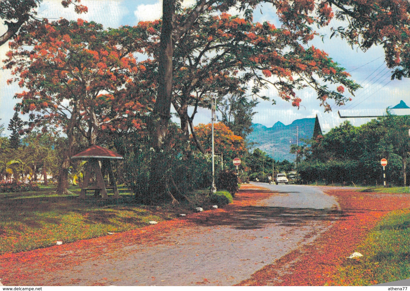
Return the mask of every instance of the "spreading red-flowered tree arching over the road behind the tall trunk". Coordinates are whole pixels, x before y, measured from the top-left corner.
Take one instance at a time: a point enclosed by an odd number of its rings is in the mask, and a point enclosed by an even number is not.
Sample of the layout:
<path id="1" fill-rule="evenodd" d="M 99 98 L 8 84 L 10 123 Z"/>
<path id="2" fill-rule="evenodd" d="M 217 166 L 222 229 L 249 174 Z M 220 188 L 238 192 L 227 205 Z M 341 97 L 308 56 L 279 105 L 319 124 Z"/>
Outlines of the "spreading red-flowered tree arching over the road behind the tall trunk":
<path id="1" fill-rule="evenodd" d="M 190 9 L 182 9 L 175 18 L 183 18 L 189 12 Z M 353 92 L 359 87 L 328 54 L 307 45 L 314 33 L 301 38 L 268 22 L 253 23 L 215 12 L 215 9 L 205 11 L 173 53 L 171 103 L 180 117 L 185 138 L 191 132 L 201 151 L 204 150 L 196 139 L 193 120 L 198 107 L 210 107 L 213 95 L 244 95 L 250 87 L 254 97 L 270 99 L 260 92 L 273 86 L 282 99 L 299 107 L 301 99 L 295 89 L 312 86 L 321 105 L 329 111 L 328 99 L 344 104 L 349 99 L 342 94 L 345 88 Z M 153 59 L 153 64 L 159 63 L 161 28 L 160 20 L 126 28 L 145 30 L 148 39 L 144 52 Z M 323 81 L 342 85 L 330 88 Z M 189 106 L 194 108 L 191 115 L 188 115 Z"/>

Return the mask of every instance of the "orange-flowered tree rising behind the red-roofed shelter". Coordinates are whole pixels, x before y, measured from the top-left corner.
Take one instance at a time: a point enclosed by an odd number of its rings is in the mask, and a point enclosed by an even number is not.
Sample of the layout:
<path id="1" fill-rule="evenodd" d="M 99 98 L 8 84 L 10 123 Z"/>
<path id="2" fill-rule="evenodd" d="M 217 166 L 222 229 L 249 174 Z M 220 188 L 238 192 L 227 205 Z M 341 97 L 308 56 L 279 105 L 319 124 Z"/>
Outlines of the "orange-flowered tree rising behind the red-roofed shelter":
<path id="1" fill-rule="evenodd" d="M 64 193 L 75 137 L 82 135 L 92 145 L 101 130 L 141 129 L 141 117 L 153 101 L 146 92 L 150 86 L 140 79 L 146 68 L 132 54 L 138 48 L 119 43 L 118 31 L 81 19 L 45 20 L 28 30 L 9 44 L 5 68 L 14 78 L 8 82 L 24 88 L 15 95 L 21 99 L 16 109 L 30 115 L 30 128 L 47 131 L 53 125 L 66 133 L 57 187 Z"/>

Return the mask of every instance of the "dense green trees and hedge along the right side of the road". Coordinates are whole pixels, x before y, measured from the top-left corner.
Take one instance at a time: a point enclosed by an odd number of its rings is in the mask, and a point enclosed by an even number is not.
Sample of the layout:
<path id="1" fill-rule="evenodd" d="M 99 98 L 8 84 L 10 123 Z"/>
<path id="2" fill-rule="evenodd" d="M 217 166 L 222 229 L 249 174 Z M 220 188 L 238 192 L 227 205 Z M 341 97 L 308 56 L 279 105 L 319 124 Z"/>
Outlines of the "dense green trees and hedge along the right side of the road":
<path id="1" fill-rule="evenodd" d="M 409 116 L 387 115 L 360 127 L 344 122 L 326 135 L 310 140 L 298 171 L 304 183 L 383 183 L 381 158 L 387 158 L 387 183 L 403 184 L 409 160 Z M 405 169 L 405 170 L 404 170 Z"/>

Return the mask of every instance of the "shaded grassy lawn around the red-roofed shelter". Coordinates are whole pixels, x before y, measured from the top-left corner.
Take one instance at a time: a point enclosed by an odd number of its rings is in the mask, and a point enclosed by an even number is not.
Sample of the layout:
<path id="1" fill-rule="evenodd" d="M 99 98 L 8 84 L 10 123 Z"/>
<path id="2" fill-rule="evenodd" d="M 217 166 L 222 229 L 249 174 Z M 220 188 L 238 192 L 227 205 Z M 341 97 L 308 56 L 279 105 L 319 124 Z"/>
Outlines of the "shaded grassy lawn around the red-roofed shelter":
<path id="1" fill-rule="evenodd" d="M 69 196 L 50 194 L 53 189 L 0 193 L 0 254 L 132 230 L 146 226 L 151 220 L 172 219 L 178 212 L 167 205 L 160 208 L 137 205 L 128 190 L 121 187 L 118 201 L 92 195 L 78 199 L 78 187 L 71 187 L 75 195 Z"/>

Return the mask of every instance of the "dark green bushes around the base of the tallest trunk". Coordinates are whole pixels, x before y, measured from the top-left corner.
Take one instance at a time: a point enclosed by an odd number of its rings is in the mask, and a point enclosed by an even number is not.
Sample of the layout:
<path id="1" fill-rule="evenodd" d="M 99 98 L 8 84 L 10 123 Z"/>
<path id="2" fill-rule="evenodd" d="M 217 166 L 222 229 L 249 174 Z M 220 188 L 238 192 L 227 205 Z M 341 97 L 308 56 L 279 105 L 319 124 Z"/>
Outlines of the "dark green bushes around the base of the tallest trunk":
<path id="1" fill-rule="evenodd" d="M 134 135 L 123 137 L 123 144 L 126 147 L 124 163 L 124 180 L 137 199 L 143 203 L 161 204 L 169 200 L 169 196 L 150 200 L 150 193 L 147 191 L 150 183 L 150 167 L 155 165 L 161 171 L 156 179 L 162 179 L 173 196 L 183 201 L 182 195 L 196 189 L 210 187 L 212 183 L 212 160 L 210 155 L 192 153 L 185 151 L 186 144 L 181 138 L 181 131 L 176 124 L 171 125 L 173 132 L 171 140 L 174 144 L 172 149 L 155 152 L 149 146 L 149 141 L 145 139 L 135 139 L 132 145 L 128 146 L 128 140 L 132 140 Z M 162 157 L 166 157 L 163 159 Z M 216 166 L 216 175 L 221 170 Z M 176 187 L 175 187 L 176 186 Z M 182 195 L 181 195 L 182 194 Z"/>

